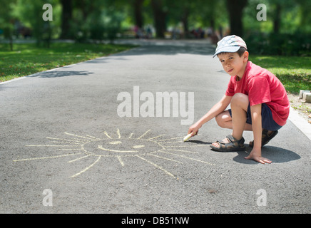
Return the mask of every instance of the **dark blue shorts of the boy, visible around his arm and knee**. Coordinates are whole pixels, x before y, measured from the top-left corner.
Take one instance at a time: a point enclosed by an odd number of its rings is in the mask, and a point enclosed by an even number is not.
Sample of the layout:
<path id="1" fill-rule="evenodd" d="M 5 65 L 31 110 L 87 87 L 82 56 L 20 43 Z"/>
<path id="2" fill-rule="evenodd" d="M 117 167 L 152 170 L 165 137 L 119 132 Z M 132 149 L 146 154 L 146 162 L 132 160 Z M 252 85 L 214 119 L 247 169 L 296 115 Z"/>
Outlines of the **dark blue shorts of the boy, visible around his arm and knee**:
<path id="1" fill-rule="evenodd" d="M 231 117 L 231 109 L 228 110 Z M 282 128 L 282 126 L 278 125 L 275 123 L 275 120 L 272 118 L 272 112 L 269 106 L 265 103 L 262 103 L 261 106 L 261 123 L 262 123 L 262 128 L 265 130 L 279 130 Z M 250 114 L 250 105 L 248 104 L 248 112 L 246 113 L 246 123 L 252 124 L 252 115 Z"/>

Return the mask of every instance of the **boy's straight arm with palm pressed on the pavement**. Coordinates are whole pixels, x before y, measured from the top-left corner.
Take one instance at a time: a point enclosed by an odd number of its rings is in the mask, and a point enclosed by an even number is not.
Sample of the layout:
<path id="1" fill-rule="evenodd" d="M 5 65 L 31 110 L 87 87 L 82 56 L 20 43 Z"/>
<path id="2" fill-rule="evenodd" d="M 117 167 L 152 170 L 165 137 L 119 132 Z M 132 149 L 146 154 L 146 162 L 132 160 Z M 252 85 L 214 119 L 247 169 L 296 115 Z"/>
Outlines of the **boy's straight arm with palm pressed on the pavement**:
<path id="1" fill-rule="evenodd" d="M 250 113 L 252 115 L 252 128 L 253 128 L 253 135 L 254 135 L 254 146 L 253 150 L 250 152 L 246 159 L 253 159 L 257 162 L 262 164 L 271 163 L 265 157 L 261 157 L 261 139 L 262 139 L 262 118 L 261 118 L 261 105 L 253 105 L 250 106 Z"/>

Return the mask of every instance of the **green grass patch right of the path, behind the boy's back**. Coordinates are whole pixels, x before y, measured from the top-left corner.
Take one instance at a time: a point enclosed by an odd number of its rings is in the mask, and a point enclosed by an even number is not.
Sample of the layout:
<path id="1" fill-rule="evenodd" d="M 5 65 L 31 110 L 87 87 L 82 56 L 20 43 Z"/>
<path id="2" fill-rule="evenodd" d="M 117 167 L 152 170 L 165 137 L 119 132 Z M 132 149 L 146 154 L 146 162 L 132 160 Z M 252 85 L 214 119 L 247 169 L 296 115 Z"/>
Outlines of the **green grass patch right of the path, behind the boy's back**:
<path id="1" fill-rule="evenodd" d="M 309 56 L 250 56 L 250 61 L 274 73 L 289 93 L 311 90 Z"/>

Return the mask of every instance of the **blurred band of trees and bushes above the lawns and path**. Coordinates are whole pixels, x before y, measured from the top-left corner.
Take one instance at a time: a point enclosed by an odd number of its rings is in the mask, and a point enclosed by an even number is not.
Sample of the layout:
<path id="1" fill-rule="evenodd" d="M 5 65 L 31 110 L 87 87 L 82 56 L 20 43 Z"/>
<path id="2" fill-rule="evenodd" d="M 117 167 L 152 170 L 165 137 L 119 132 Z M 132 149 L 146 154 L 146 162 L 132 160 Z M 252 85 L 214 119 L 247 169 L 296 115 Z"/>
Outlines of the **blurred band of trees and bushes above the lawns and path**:
<path id="1" fill-rule="evenodd" d="M 42 19 L 44 4 L 53 6 L 53 21 Z M 262 21 L 258 4 L 267 10 Z M 297 55 L 310 53 L 310 9 L 310 1 L 303 0 L 1 0 L 0 29 L 9 41 L 38 43 L 235 34 L 253 42 L 256 52 Z"/>

